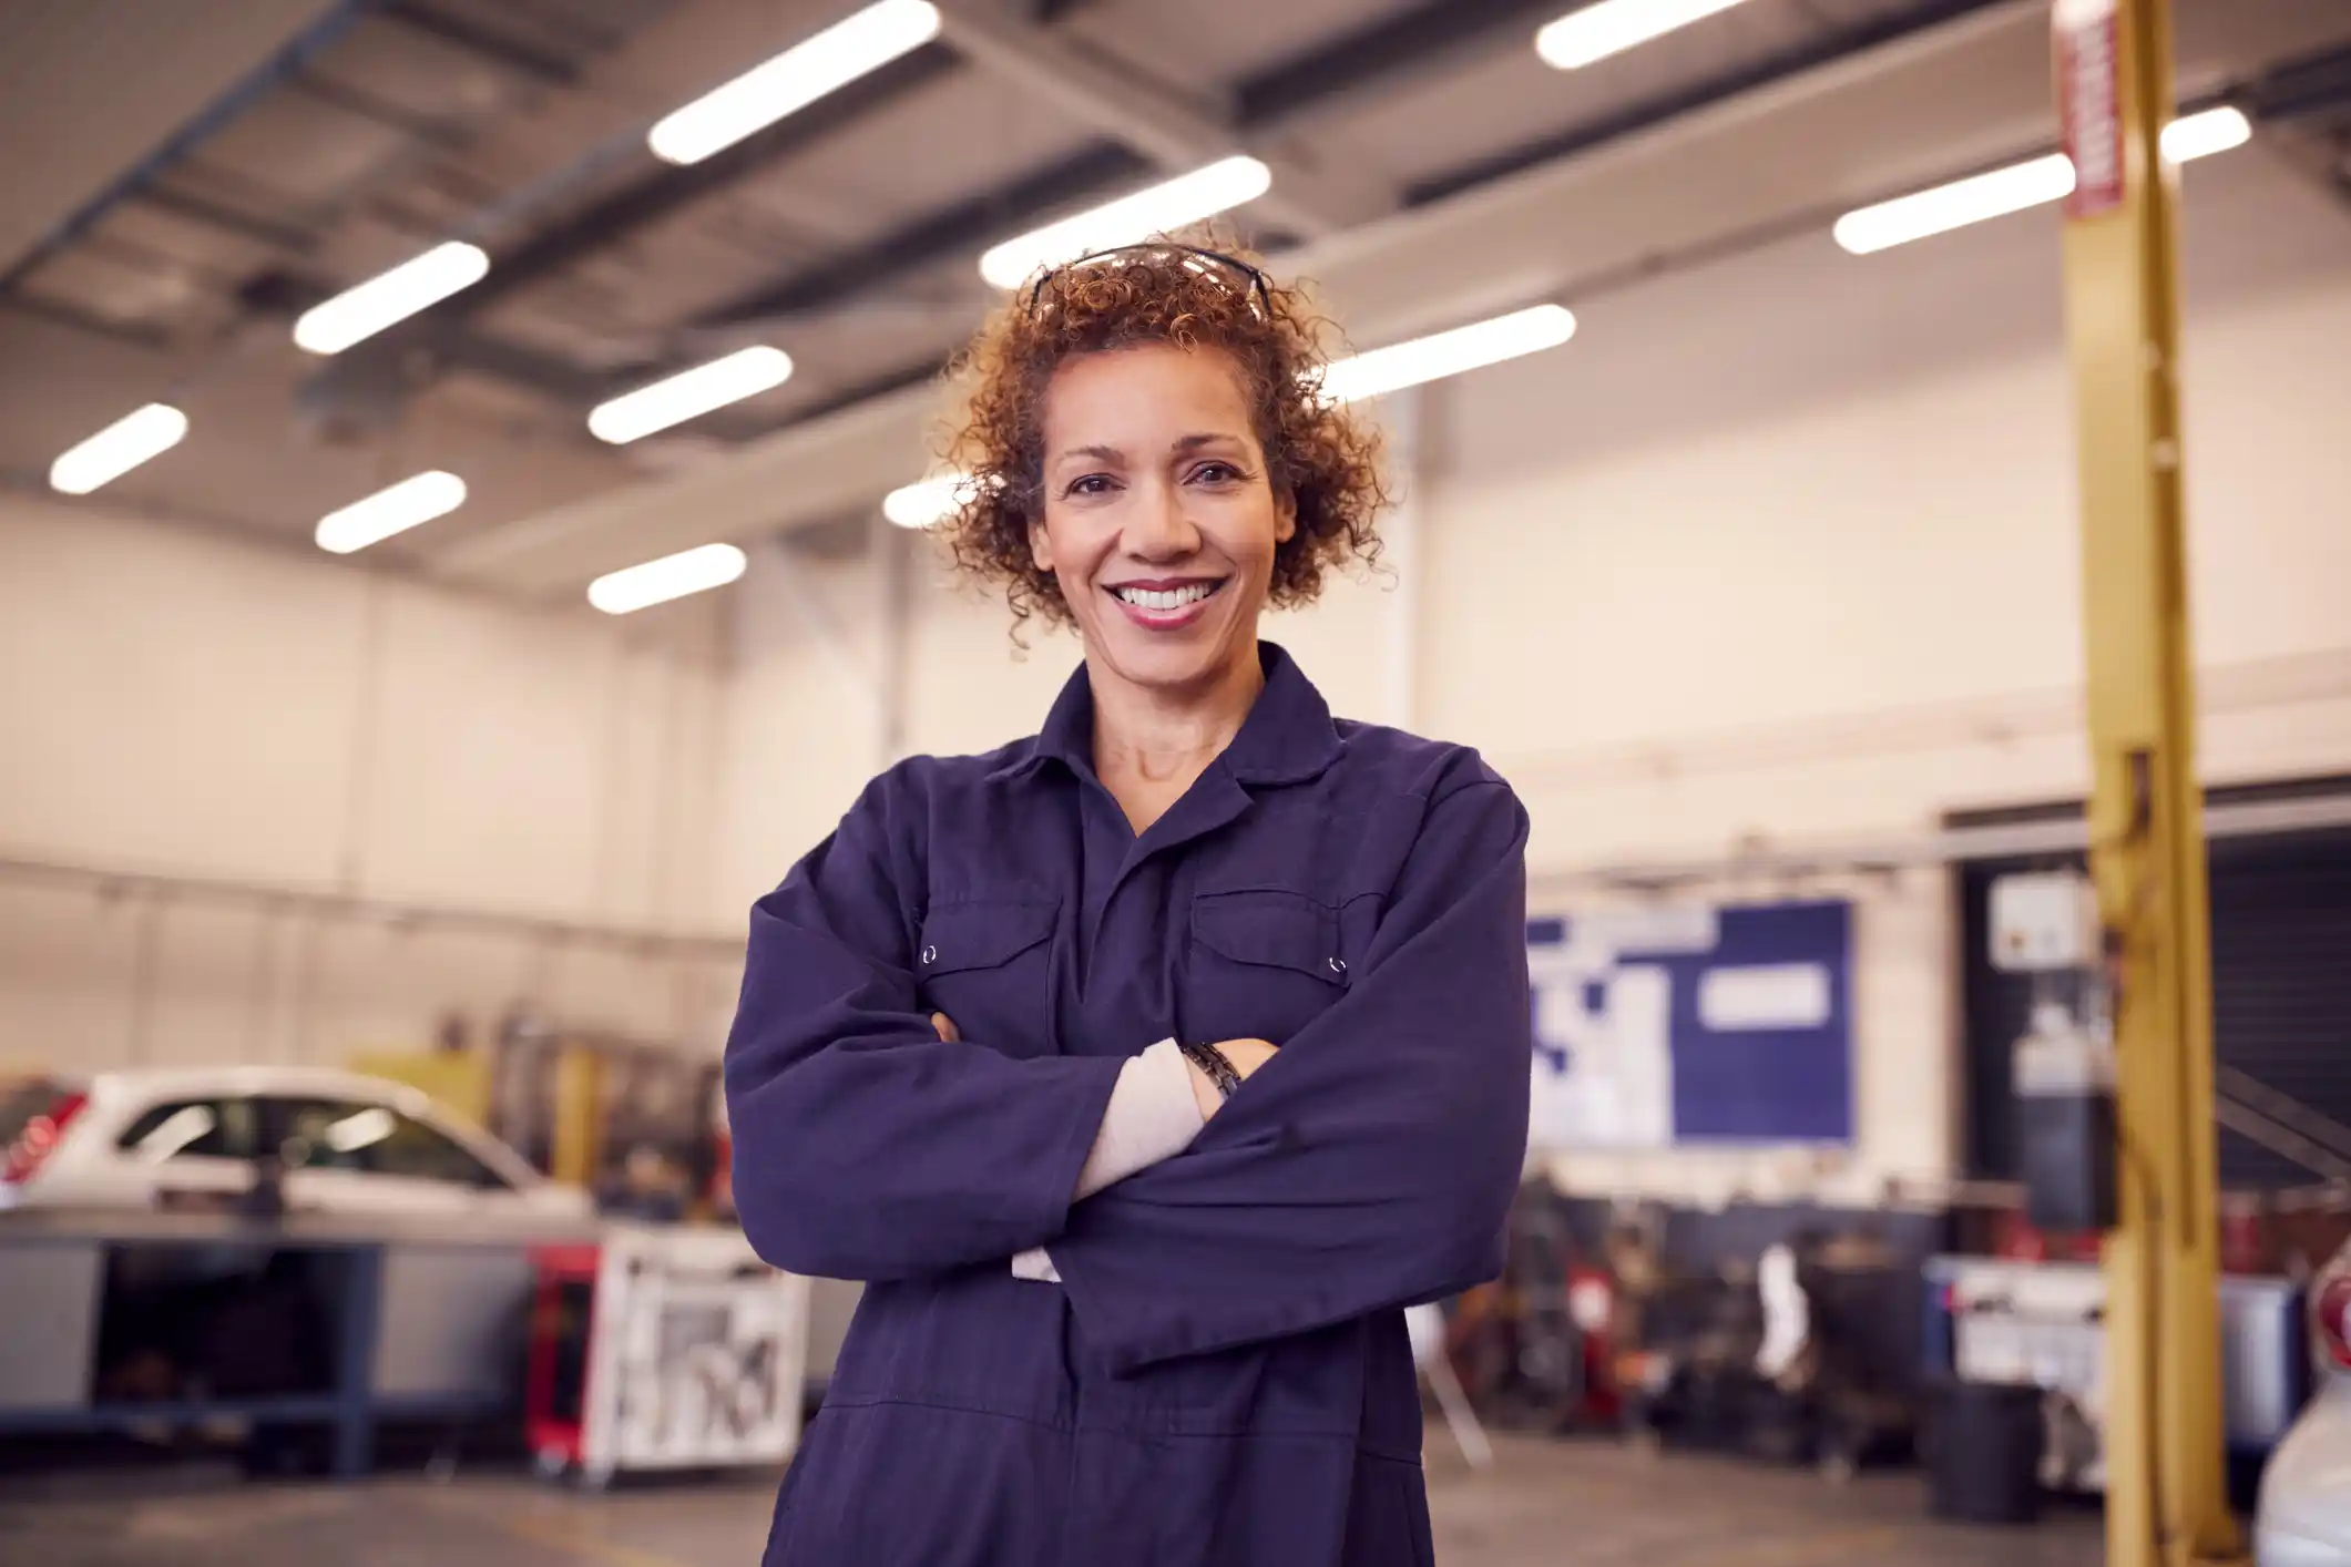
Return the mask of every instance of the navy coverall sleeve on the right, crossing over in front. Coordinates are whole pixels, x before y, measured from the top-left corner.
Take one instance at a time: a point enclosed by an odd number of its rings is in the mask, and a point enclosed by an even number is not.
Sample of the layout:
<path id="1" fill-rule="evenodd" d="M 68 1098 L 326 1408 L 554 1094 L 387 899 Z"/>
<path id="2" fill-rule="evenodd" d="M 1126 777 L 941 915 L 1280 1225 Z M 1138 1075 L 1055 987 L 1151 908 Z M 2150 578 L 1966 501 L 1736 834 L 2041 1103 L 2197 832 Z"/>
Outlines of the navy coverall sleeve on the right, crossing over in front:
<path id="1" fill-rule="evenodd" d="M 1493 1278 L 1526 1165 L 1526 811 L 1491 773 L 1429 806 L 1354 984 L 1187 1154 L 1049 1245 L 1114 1372 Z"/>

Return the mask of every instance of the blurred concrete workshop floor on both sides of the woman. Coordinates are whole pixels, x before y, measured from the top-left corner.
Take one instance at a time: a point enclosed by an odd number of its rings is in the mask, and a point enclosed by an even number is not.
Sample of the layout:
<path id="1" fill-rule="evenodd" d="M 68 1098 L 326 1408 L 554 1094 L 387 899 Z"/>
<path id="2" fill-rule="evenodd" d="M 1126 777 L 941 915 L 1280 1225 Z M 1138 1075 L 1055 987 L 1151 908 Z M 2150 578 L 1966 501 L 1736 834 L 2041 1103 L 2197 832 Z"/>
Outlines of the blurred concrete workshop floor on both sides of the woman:
<path id="1" fill-rule="evenodd" d="M 578 1497 L 505 1475 L 355 1487 L 216 1473 L 0 1487 L 0 1562 L 42 1567 L 752 1567 L 764 1478 Z M 1469 1473 L 1432 1438 L 1444 1567 L 2092 1567 L 2097 1513 L 2034 1529 L 1928 1522 L 1914 1475 L 1831 1487 L 1810 1473 L 1505 1440 Z"/>

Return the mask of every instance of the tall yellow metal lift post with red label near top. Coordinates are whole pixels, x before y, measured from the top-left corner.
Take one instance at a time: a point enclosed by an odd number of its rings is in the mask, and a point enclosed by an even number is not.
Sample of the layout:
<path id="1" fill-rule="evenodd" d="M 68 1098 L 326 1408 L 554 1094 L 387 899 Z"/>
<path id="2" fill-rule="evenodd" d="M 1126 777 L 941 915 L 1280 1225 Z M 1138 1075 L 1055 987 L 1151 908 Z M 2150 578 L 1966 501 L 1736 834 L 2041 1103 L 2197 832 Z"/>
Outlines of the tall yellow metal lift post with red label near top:
<path id="1" fill-rule="evenodd" d="M 2238 1560 L 2222 1464 L 2212 956 L 2179 503 L 2168 0 L 2055 0 L 2121 1229 L 2106 1243 L 2106 1562 Z"/>

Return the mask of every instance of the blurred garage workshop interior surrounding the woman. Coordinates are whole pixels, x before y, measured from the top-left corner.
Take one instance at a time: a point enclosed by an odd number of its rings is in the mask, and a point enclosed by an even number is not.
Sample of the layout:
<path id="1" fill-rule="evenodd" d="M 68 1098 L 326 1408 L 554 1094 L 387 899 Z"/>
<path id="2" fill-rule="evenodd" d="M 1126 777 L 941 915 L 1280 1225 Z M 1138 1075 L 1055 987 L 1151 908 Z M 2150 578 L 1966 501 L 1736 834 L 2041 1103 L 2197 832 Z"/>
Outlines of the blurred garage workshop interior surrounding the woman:
<path id="1" fill-rule="evenodd" d="M 2351 7 L 0 0 L 0 1560 L 757 1558 L 745 909 L 1079 665 L 983 256 L 1215 176 L 1521 334 L 1267 620 L 1533 820 L 1436 1560 L 2351 1567 Z"/>

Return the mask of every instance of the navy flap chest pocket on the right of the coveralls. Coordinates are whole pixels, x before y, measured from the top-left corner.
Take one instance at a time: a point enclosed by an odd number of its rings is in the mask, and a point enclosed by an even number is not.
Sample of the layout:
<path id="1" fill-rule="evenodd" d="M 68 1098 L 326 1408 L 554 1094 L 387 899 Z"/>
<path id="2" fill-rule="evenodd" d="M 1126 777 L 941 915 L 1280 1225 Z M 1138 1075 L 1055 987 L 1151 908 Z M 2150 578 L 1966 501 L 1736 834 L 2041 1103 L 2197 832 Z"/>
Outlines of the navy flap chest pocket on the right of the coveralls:
<path id="1" fill-rule="evenodd" d="M 1187 1038 L 1277 1045 L 1347 994 L 1338 909 L 1300 893 L 1201 893 L 1185 973 Z"/>

